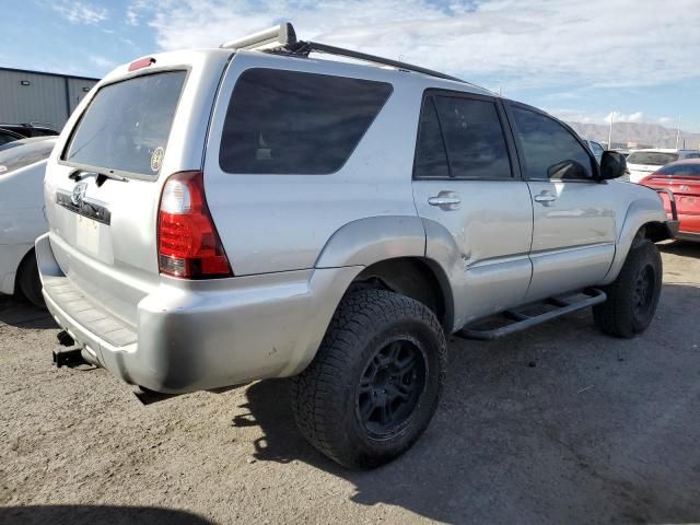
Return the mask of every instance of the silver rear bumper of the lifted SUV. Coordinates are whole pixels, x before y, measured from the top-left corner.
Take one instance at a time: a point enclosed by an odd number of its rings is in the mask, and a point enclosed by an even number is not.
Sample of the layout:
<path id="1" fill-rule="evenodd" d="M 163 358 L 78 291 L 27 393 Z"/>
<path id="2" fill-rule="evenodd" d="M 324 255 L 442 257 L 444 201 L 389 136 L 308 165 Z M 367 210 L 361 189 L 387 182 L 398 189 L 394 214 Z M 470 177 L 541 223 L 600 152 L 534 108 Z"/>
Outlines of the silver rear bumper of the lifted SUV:
<path id="1" fill-rule="evenodd" d="M 36 241 L 49 312 L 95 360 L 127 383 L 179 394 L 301 372 L 360 267 L 211 281 L 163 278 L 138 304 L 137 326 L 74 287 Z"/>

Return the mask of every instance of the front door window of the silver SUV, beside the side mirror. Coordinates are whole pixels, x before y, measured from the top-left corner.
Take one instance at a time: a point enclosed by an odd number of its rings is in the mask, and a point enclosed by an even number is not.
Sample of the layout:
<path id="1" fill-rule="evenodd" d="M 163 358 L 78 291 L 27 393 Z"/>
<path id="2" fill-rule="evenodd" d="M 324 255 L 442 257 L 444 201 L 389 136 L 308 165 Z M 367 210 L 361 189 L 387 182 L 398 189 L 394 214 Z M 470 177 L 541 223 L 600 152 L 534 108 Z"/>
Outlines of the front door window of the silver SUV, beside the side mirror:
<path id="1" fill-rule="evenodd" d="M 513 107 L 513 117 L 527 178 L 586 179 L 593 176 L 586 149 L 561 124 L 520 107 Z"/>

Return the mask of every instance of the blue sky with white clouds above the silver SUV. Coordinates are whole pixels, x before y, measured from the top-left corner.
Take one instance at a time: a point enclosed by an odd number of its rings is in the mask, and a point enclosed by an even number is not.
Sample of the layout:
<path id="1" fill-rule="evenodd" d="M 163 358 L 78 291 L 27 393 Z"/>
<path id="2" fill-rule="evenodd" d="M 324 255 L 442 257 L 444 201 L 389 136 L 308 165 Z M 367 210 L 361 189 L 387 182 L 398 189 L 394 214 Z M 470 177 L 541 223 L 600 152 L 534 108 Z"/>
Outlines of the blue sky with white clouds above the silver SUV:
<path id="1" fill-rule="evenodd" d="M 290 21 L 570 121 L 700 132 L 700 0 L 0 0 L 0 67 L 100 78 Z M 1 98 L 0 98 L 1 103 Z"/>

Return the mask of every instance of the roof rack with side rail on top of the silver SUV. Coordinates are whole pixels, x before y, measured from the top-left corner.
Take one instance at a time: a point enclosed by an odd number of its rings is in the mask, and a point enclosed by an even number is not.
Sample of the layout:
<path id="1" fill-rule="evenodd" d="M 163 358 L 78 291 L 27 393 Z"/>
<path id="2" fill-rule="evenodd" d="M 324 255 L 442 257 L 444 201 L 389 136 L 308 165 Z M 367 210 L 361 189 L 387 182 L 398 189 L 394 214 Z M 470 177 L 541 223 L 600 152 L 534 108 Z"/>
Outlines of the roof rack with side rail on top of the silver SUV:
<path id="1" fill-rule="evenodd" d="M 383 66 L 390 66 L 404 71 L 413 71 L 417 73 L 428 74 L 438 79 L 453 80 L 455 82 L 462 82 L 463 84 L 474 85 L 476 84 L 452 77 L 440 71 L 433 71 L 431 69 L 421 68 L 420 66 L 413 66 L 400 60 L 393 60 L 390 58 L 377 57 L 374 55 L 368 55 L 365 52 L 353 51 L 351 49 L 343 49 L 342 47 L 328 46 L 326 44 L 319 44 L 317 42 L 304 42 L 296 39 L 296 32 L 289 22 L 270 27 L 258 33 L 254 33 L 243 38 L 230 40 L 220 46 L 224 49 L 247 49 L 247 50 L 260 50 L 267 52 L 284 52 L 288 55 L 299 55 L 307 57 L 310 52 L 325 52 L 327 55 L 335 55 L 339 57 L 353 58 L 355 60 L 362 60 L 364 62 L 380 63 Z M 488 90 L 486 90 L 488 91 Z"/>

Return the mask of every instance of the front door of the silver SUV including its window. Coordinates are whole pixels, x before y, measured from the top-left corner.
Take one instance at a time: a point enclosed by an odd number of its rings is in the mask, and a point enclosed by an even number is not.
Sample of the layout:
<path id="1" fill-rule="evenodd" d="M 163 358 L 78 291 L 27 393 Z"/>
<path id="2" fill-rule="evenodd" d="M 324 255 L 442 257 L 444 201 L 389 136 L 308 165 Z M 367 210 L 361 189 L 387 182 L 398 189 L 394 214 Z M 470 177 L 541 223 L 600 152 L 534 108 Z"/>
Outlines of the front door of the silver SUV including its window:
<path id="1" fill-rule="evenodd" d="M 527 300 L 594 285 L 615 255 L 615 201 L 583 141 L 559 120 L 509 103 L 533 199 L 533 280 Z"/>

